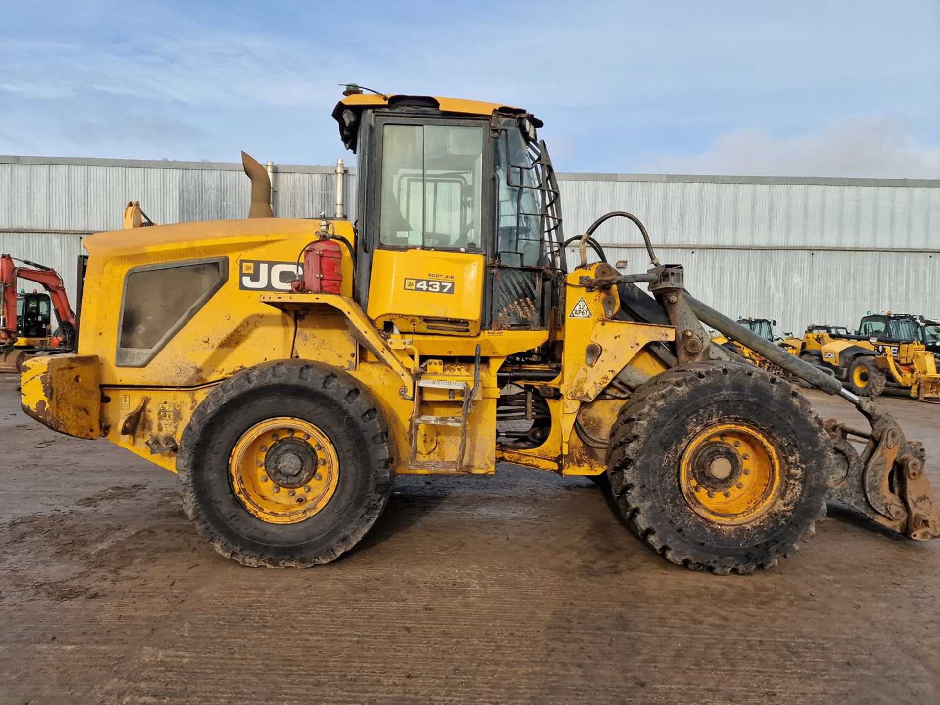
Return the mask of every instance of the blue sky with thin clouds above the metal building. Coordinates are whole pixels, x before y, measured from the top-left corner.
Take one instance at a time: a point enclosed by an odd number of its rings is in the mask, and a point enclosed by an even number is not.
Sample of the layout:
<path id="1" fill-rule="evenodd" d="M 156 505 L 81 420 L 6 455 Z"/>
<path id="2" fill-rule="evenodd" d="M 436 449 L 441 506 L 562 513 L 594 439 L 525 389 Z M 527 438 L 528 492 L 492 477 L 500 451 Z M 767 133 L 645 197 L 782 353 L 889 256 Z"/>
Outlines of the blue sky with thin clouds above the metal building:
<path id="1" fill-rule="evenodd" d="M 562 171 L 940 178 L 940 0 L 5 2 L 0 153 L 329 164 L 340 82 L 522 105 Z"/>

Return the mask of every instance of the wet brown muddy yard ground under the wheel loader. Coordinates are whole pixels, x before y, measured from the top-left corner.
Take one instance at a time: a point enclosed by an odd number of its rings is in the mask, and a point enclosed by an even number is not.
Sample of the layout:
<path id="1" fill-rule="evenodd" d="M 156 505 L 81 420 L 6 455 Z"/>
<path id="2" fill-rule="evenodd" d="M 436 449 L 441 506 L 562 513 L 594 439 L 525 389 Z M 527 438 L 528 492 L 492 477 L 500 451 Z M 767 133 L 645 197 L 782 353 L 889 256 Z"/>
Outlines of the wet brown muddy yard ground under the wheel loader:
<path id="1" fill-rule="evenodd" d="M 940 542 L 830 512 L 772 571 L 690 572 L 591 482 L 507 467 L 399 478 L 351 554 L 253 570 L 196 537 L 175 476 L 17 394 L 0 379 L 2 703 L 940 702 Z M 940 406 L 885 403 L 940 488 Z"/>

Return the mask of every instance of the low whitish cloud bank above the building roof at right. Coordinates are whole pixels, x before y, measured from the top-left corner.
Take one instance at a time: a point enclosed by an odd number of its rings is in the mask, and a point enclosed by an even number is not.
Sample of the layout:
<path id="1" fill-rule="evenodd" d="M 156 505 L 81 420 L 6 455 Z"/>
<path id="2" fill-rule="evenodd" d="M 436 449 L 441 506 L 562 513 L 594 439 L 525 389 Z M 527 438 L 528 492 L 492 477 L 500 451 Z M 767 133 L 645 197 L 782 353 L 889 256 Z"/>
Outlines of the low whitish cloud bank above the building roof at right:
<path id="1" fill-rule="evenodd" d="M 844 118 L 807 133 L 732 130 L 697 154 L 659 152 L 633 169 L 669 174 L 940 179 L 940 144 L 887 116 Z"/>

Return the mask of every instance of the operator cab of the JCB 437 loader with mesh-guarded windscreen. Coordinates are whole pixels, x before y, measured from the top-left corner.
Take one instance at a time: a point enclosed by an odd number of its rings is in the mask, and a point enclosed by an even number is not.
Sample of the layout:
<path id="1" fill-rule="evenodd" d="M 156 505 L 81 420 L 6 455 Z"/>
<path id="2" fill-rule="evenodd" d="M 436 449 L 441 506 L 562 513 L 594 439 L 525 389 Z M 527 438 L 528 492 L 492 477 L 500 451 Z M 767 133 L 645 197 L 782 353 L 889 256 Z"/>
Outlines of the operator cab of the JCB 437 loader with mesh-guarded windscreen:
<path id="1" fill-rule="evenodd" d="M 566 270 L 554 170 L 521 108 L 348 86 L 355 298 L 389 333 L 547 330 Z"/>

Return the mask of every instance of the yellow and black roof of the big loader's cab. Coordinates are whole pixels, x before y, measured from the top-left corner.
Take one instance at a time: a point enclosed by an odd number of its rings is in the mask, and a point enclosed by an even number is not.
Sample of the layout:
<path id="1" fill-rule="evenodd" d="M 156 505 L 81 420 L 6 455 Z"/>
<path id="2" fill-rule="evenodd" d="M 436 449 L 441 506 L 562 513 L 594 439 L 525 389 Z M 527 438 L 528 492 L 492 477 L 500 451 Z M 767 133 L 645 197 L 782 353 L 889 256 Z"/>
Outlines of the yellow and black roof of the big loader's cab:
<path id="1" fill-rule="evenodd" d="M 378 95 L 376 93 L 353 93 L 345 96 L 333 109 L 333 118 L 339 124 L 339 136 L 346 149 L 356 149 L 356 136 L 354 122 L 367 108 L 395 108 L 417 107 L 431 108 L 442 113 L 454 115 L 478 115 L 490 117 L 493 113 L 505 113 L 511 116 L 527 116 L 535 127 L 541 127 L 542 122 L 525 108 L 514 105 L 503 105 L 498 102 L 468 101 L 463 98 L 444 98 L 440 96 L 411 96 L 402 94 Z M 351 115 L 352 113 L 352 115 Z M 352 121 L 351 121 L 352 118 Z"/>

